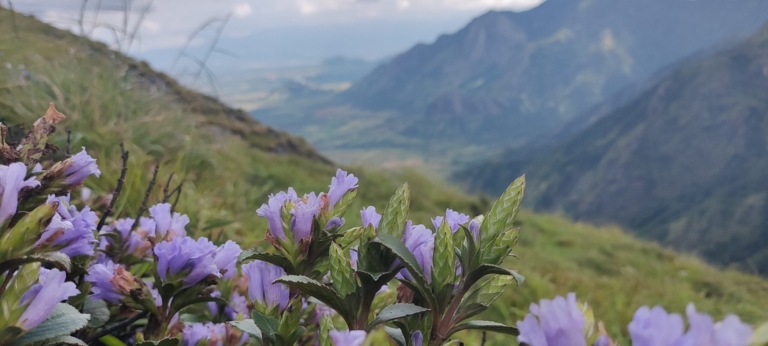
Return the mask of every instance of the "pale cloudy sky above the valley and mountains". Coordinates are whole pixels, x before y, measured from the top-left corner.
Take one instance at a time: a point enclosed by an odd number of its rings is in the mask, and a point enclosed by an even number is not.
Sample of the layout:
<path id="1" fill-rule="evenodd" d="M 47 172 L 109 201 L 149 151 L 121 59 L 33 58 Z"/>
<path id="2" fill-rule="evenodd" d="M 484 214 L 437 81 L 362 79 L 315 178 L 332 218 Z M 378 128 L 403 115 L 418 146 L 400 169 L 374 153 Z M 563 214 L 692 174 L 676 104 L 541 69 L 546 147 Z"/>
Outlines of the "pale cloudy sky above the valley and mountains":
<path id="1" fill-rule="evenodd" d="M 122 40 L 125 23 L 128 31 L 138 24 L 130 53 L 164 68 L 196 28 L 217 18 L 230 18 L 219 43 L 221 55 L 226 56 L 217 58 L 221 64 L 231 59 L 248 64 L 305 63 L 340 55 L 375 60 L 454 32 L 485 11 L 520 11 L 542 1 L 13 0 L 13 4 L 21 12 L 74 32 L 80 32 L 82 17 L 87 34 L 113 47 Z M 203 31 L 191 45 L 205 46 L 215 27 Z M 126 46 L 123 43 L 122 49 Z"/>

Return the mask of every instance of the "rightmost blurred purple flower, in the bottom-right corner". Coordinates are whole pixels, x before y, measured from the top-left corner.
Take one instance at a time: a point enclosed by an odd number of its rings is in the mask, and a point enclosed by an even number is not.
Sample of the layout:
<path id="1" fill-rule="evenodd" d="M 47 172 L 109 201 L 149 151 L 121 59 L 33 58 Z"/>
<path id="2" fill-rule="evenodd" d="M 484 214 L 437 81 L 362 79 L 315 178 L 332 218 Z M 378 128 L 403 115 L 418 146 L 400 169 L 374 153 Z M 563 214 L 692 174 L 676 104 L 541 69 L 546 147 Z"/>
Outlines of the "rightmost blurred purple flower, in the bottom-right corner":
<path id="1" fill-rule="evenodd" d="M 692 303 L 685 312 L 690 327 L 674 346 L 746 346 L 752 337 L 752 328 L 735 315 L 715 324 L 709 315 L 698 313 Z"/>

